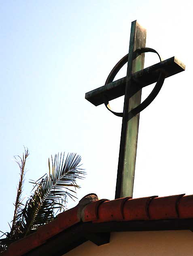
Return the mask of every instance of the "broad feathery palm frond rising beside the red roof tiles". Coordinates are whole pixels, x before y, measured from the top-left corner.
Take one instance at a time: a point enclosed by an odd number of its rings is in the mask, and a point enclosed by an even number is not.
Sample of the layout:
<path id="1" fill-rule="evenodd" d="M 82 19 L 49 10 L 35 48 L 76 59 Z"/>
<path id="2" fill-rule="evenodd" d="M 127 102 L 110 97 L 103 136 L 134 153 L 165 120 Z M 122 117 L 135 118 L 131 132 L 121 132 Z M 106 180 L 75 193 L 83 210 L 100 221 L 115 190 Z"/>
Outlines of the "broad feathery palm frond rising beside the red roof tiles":
<path id="1" fill-rule="evenodd" d="M 76 180 L 83 179 L 85 172 L 80 168 L 81 156 L 62 153 L 51 156 L 49 175 L 41 181 L 34 181 L 34 194 L 26 203 L 22 215 L 28 227 L 25 235 L 32 233 L 55 217 L 56 211 L 66 209 L 67 197 L 76 198 L 76 188 L 80 188 Z M 51 163 L 51 164 L 50 164 Z"/>

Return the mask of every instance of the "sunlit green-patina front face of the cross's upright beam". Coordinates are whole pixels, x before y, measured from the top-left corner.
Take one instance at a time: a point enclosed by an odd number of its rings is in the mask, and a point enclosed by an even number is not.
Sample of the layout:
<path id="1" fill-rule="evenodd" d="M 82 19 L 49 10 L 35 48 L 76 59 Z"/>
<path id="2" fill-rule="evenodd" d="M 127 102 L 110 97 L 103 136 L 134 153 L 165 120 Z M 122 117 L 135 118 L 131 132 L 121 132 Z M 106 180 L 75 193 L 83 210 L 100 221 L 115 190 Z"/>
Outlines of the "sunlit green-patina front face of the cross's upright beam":
<path id="1" fill-rule="evenodd" d="M 135 33 L 132 31 L 135 30 Z M 136 21 L 131 23 L 131 38 L 129 45 L 129 53 L 135 51 L 136 49 L 145 47 L 146 44 L 146 30 L 142 28 Z M 135 60 L 132 60 L 132 55 L 130 56 L 130 62 L 132 65 L 131 73 L 135 73 L 144 67 L 144 53 L 139 55 Z M 129 68 L 129 63 L 128 63 Z M 128 75 L 128 74 L 127 74 Z M 128 80 L 131 76 L 128 76 Z M 131 81 L 131 79 L 130 79 Z M 128 112 L 134 107 L 137 107 L 141 102 L 142 90 L 139 90 L 134 96 L 129 98 L 129 108 Z M 134 187 L 134 175 L 135 175 L 135 165 L 136 165 L 136 151 L 137 151 L 137 141 L 138 141 L 138 128 L 139 128 L 139 115 L 133 117 L 129 122 L 127 122 L 126 131 L 126 141 L 125 141 L 125 155 L 123 162 L 123 175 L 122 175 L 122 186 L 120 197 L 133 196 Z"/>

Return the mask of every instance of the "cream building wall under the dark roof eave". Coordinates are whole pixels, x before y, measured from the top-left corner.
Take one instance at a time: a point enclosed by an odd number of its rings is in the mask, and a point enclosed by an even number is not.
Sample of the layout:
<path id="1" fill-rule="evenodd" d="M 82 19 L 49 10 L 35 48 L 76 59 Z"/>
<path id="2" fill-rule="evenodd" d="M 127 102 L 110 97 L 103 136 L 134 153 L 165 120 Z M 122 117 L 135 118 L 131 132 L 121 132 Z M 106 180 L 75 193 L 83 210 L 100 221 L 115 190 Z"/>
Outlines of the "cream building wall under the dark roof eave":
<path id="1" fill-rule="evenodd" d="M 193 233 L 189 230 L 111 233 L 110 243 L 97 246 L 90 241 L 65 256 L 192 256 Z"/>

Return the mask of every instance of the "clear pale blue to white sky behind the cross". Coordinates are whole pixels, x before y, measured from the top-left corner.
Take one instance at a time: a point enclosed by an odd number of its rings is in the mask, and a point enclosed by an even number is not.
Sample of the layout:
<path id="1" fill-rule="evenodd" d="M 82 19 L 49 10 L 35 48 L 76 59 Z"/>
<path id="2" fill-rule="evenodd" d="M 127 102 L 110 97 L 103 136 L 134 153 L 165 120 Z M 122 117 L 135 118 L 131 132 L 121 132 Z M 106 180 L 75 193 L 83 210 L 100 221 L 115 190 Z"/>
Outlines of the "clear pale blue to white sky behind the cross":
<path id="1" fill-rule="evenodd" d="M 128 52 L 135 19 L 147 29 L 146 46 L 163 59 L 175 55 L 186 71 L 166 79 L 140 115 L 134 197 L 193 194 L 191 1 L 0 1 L 0 230 L 13 218 L 13 156 L 23 145 L 30 151 L 23 195 L 29 179 L 48 171 L 49 156 L 66 151 L 80 154 L 87 171 L 79 199 L 114 198 L 121 118 L 91 105 L 85 92 L 104 85 Z M 145 66 L 157 62 L 146 53 Z M 117 78 L 125 75 L 123 68 Z M 111 105 L 121 111 L 123 99 Z"/>

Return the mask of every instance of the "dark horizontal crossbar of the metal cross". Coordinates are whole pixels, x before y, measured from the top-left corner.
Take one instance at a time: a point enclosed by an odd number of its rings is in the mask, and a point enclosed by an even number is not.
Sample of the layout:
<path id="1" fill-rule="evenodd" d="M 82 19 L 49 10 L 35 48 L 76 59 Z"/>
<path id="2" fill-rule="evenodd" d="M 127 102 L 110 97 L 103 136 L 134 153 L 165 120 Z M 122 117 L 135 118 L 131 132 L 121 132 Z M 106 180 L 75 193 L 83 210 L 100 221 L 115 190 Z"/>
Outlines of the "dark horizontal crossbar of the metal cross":
<path id="1" fill-rule="evenodd" d="M 143 87 L 157 82 L 159 70 L 165 71 L 165 78 L 180 73 L 185 70 L 185 65 L 175 57 L 159 62 L 148 68 L 144 68 L 131 75 L 132 86 L 129 88 L 129 98 L 132 97 Z M 104 103 L 103 95 L 105 94 L 108 100 L 114 100 L 125 94 L 126 77 L 108 83 L 95 90 L 87 92 L 85 99 L 93 105 L 98 106 Z"/>

